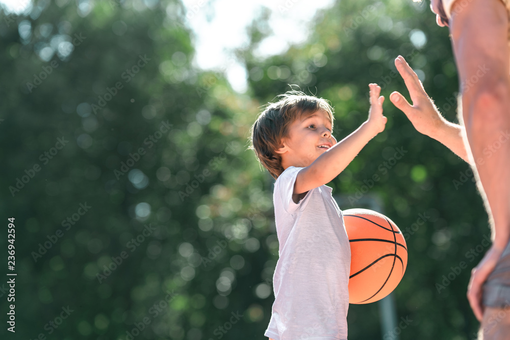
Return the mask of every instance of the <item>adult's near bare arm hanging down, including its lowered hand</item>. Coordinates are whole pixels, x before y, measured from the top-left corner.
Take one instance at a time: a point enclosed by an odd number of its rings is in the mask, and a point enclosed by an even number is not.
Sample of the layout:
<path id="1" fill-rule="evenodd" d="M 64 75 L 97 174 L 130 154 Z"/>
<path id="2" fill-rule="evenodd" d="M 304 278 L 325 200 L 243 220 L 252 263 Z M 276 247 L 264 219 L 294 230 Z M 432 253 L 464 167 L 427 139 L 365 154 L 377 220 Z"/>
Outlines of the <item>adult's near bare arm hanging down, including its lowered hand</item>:
<path id="1" fill-rule="evenodd" d="M 501 1 L 456 1 L 449 26 L 467 140 L 493 228 L 493 245 L 473 269 L 468 287 L 469 303 L 481 321 L 482 284 L 510 238 L 510 143 L 505 137 L 510 130 L 508 14 Z"/>

